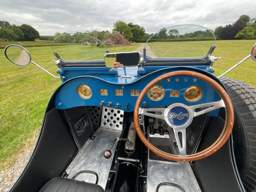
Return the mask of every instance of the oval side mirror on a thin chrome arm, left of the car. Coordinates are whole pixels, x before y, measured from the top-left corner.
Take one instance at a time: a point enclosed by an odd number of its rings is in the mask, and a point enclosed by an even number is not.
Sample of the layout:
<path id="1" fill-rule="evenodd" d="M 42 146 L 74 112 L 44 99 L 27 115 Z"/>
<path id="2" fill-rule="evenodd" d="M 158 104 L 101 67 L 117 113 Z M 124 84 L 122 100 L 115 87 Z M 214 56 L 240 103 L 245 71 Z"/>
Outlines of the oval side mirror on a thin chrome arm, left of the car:
<path id="1" fill-rule="evenodd" d="M 31 63 L 29 52 L 19 45 L 8 45 L 4 49 L 4 54 L 8 61 L 17 66 L 26 66 Z"/>

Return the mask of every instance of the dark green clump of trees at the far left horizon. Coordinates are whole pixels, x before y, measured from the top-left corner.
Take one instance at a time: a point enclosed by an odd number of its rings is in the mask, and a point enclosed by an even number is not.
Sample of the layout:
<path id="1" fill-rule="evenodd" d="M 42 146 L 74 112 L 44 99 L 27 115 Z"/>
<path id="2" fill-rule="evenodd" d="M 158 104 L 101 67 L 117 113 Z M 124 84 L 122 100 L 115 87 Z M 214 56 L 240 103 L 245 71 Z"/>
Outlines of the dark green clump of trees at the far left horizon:
<path id="1" fill-rule="evenodd" d="M 30 25 L 17 26 L 0 20 L 0 41 L 35 41 L 37 38 L 39 32 Z"/>

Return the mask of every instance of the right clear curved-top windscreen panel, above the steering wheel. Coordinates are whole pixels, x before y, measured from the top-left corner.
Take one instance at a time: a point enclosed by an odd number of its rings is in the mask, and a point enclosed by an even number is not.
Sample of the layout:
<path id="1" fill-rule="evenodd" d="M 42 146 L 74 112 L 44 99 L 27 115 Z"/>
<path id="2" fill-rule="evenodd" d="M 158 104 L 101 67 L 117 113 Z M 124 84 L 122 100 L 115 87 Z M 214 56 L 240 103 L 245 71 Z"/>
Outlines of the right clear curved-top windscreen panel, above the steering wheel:
<path id="1" fill-rule="evenodd" d="M 145 44 L 148 58 L 201 58 L 215 44 L 210 29 L 196 25 L 179 25 L 161 29 Z"/>

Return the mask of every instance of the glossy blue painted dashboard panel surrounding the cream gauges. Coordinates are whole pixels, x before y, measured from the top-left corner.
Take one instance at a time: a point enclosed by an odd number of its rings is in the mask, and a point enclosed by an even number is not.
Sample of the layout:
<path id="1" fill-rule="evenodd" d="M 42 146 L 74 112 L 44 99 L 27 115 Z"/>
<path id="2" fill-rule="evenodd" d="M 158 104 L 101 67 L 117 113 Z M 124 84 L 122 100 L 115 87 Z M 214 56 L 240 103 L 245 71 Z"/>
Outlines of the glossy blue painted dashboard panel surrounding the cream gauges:
<path id="1" fill-rule="evenodd" d="M 137 79 L 137 81 L 133 82 L 127 81 L 125 78 L 120 78 L 113 75 L 91 75 L 70 79 L 69 81 L 65 82 L 64 85 L 58 90 L 55 98 L 55 107 L 57 109 L 67 109 L 78 106 L 98 106 L 101 101 L 104 101 L 105 104 L 103 106 L 107 106 L 108 102 L 111 102 L 111 107 L 114 108 L 118 103 L 120 110 L 134 111 L 134 105 L 136 103 L 137 96 L 131 96 L 131 90 L 139 90 L 141 92 L 150 81 L 170 71 L 174 70 L 169 69 L 156 71 L 146 76 L 141 76 L 140 79 Z M 196 79 L 196 82 L 195 80 L 193 81 L 195 78 L 190 76 L 176 76 L 169 79 L 171 80 L 169 82 L 167 79 L 164 79 L 163 81 L 157 83 L 163 86 L 165 89 L 165 95 L 163 99 L 159 101 L 152 101 L 148 98 L 147 95 L 145 95 L 140 107 L 143 108 L 143 102 L 147 103 L 147 107 L 156 107 L 168 106 L 177 102 L 191 106 L 220 100 L 218 93 L 212 88 L 212 86 L 205 83 L 201 79 Z M 175 79 L 179 79 L 179 82 L 176 82 Z M 185 82 L 184 79 L 187 79 L 187 82 Z M 80 84 L 86 84 L 91 88 L 92 96 L 89 99 L 83 99 L 77 93 L 77 86 Z M 184 99 L 183 96 L 186 88 L 191 85 L 199 85 L 203 89 L 203 96 L 196 102 L 188 102 Z M 107 89 L 108 95 L 100 95 L 99 89 Z M 115 89 L 122 89 L 123 96 L 116 96 Z M 180 90 L 179 97 L 170 97 L 171 90 Z M 128 110 L 126 110 L 127 103 L 129 103 Z M 218 113 L 218 110 L 211 112 L 213 116 L 215 116 L 216 113 Z"/>

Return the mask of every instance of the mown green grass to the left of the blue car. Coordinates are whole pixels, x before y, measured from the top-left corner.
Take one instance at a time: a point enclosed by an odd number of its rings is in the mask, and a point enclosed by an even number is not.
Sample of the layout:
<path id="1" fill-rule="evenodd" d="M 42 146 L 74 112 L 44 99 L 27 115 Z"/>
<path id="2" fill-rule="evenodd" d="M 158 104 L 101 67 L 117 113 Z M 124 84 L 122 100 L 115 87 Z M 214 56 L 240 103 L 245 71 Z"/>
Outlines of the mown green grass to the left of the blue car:
<path id="1" fill-rule="evenodd" d="M 112 47 L 110 51 L 134 51 L 139 46 L 140 44 Z M 64 47 L 61 46 L 61 49 Z M 100 53 L 103 53 L 104 58 L 104 48 L 83 48 L 94 58 L 102 57 Z M 57 68 L 52 62 L 56 57 L 52 54 L 52 47 L 26 49 L 32 55 L 33 61 L 56 75 Z M 79 52 L 73 51 L 69 54 L 74 57 L 79 55 Z M 3 169 L 12 165 L 20 149 L 24 146 L 29 148 L 34 143 L 33 138 L 38 137 L 47 103 L 61 81 L 47 75 L 33 64 L 26 67 L 10 64 L 3 49 L 0 49 L 0 71 L 0 169 Z"/>

